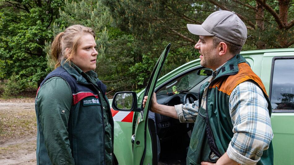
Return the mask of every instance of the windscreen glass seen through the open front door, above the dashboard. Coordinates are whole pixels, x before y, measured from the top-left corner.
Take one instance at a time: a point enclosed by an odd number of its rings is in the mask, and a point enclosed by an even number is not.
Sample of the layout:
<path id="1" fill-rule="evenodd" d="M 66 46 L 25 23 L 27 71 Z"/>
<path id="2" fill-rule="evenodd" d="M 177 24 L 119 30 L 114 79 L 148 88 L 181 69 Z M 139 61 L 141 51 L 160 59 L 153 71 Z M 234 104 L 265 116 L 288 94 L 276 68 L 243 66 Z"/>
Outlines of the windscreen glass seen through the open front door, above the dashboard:
<path id="1" fill-rule="evenodd" d="M 189 91 L 191 88 L 195 87 L 199 82 L 207 78 L 208 76 L 201 76 L 197 74 L 198 70 L 190 72 L 161 88 L 157 95 L 165 95 L 167 93 L 177 94 L 181 91 Z"/>

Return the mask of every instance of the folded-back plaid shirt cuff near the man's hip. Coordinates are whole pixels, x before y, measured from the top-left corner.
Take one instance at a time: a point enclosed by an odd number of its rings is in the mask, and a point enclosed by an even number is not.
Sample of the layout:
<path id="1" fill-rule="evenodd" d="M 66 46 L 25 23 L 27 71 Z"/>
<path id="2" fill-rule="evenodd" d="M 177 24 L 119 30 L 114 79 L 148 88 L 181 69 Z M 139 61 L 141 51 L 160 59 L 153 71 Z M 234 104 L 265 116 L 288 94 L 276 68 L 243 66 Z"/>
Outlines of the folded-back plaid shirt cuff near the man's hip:
<path id="1" fill-rule="evenodd" d="M 229 147 L 227 149 L 227 154 L 230 159 L 233 159 L 240 164 L 255 165 L 260 160 L 260 158 L 258 160 L 252 160 L 252 159 L 246 158 L 245 156 L 241 155 L 238 151 L 236 151 L 233 148 L 233 146 L 231 145 L 231 142 L 230 142 Z"/>

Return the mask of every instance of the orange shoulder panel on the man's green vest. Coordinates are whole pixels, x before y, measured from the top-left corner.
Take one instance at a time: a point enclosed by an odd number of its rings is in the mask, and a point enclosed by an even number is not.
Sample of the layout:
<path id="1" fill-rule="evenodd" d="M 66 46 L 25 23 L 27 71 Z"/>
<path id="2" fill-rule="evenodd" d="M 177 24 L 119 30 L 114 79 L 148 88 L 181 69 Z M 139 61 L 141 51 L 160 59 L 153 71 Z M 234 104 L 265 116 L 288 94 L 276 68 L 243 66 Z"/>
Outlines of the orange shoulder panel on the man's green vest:
<path id="1" fill-rule="evenodd" d="M 239 72 L 237 74 L 216 81 L 212 86 L 210 86 L 210 88 L 217 87 L 218 91 L 222 91 L 223 93 L 231 95 L 232 91 L 237 85 L 247 80 L 253 80 L 266 94 L 266 89 L 261 79 L 251 70 L 247 63 L 243 62 L 238 64 L 238 68 Z"/>

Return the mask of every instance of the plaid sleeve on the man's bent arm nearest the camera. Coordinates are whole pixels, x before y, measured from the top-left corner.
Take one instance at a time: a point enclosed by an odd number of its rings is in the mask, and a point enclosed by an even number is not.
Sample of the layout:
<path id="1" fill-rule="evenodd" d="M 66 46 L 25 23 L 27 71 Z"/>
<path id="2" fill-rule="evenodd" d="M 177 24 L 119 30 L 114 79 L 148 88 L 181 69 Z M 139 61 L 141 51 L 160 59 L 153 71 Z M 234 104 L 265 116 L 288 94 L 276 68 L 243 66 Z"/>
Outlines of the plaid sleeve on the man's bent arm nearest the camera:
<path id="1" fill-rule="evenodd" d="M 256 164 L 274 137 L 268 103 L 253 82 L 240 83 L 231 93 L 229 109 L 234 136 L 228 146 L 229 158 L 240 164 Z"/>

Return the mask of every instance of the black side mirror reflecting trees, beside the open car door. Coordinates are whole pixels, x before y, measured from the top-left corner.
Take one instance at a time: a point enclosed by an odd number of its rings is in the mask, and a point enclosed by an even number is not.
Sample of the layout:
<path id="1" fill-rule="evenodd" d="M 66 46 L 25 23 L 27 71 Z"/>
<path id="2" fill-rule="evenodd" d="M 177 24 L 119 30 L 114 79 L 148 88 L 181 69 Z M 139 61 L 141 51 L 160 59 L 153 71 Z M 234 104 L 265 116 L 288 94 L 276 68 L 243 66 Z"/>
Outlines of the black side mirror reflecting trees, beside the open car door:
<path id="1" fill-rule="evenodd" d="M 112 99 L 112 108 L 116 111 L 135 111 L 140 112 L 137 108 L 136 92 L 117 92 Z"/>

